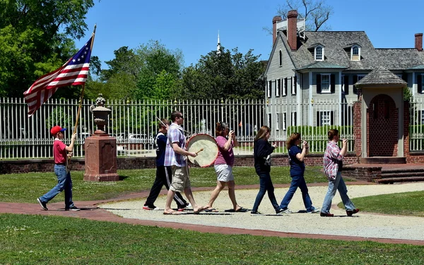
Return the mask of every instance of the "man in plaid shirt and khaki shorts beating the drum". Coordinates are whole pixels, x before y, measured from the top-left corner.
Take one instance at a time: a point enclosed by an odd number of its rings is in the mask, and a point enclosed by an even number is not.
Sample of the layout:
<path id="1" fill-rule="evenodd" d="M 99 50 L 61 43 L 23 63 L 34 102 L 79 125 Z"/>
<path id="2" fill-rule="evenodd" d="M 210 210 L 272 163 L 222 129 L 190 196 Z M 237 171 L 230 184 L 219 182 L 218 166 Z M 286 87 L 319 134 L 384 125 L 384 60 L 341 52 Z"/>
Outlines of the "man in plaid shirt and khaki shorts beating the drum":
<path id="1" fill-rule="evenodd" d="M 189 202 L 192 204 L 194 214 L 198 214 L 204 211 L 206 208 L 201 207 L 194 201 L 192 187 L 190 185 L 189 170 L 187 167 L 187 161 L 184 156 L 196 157 L 197 154 L 194 152 L 188 152 L 185 150 L 186 139 L 184 136 L 184 130 L 180 125 L 184 123 L 184 116 L 179 111 L 173 111 L 171 113 L 172 124 L 168 130 L 168 141 L 170 147 L 167 149 L 165 154 L 165 166 L 171 166 L 172 168 L 172 183 L 168 190 L 166 197 L 165 210 L 163 214 L 180 214 L 179 211 L 171 209 L 172 198 L 175 192 L 183 192 L 186 195 Z"/>

